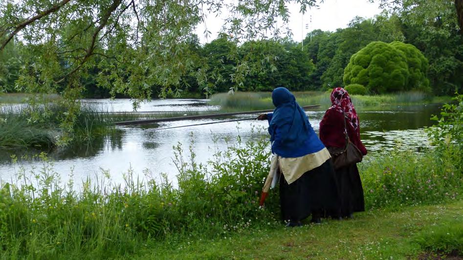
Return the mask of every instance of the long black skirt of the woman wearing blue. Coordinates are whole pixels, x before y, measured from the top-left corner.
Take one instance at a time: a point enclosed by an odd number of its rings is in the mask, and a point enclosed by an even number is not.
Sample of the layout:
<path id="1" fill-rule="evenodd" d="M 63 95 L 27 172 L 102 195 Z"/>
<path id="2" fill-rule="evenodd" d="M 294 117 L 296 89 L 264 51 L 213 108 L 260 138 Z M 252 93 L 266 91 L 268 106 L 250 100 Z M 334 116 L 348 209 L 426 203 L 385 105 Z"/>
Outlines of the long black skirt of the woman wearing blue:
<path id="1" fill-rule="evenodd" d="M 310 214 L 318 217 L 324 210 L 338 211 L 340 197 L 331 159 L 291 184 L 281 174 L 280 203 L 283 220 L 298 221 Z"/>

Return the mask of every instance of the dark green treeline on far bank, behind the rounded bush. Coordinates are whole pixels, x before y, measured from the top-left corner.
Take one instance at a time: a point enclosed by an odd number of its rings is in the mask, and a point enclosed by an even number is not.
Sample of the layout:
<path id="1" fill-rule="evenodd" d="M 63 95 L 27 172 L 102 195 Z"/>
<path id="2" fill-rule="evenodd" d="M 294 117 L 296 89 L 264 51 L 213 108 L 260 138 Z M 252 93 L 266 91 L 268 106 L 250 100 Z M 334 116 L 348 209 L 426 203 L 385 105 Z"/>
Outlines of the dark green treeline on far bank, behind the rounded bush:
<path id="1" fill-rule="evenodd" d="M 200 44 L 198 36 L 192 35 L 187 42 L 189 55 L 193 54 L 197 71 L 205 77 L 203 81 L 198 80 L 193 70 L 182 77 L 181 89 L 198 94 L 225 92 L 236 86 L 235 72 L 241 69 L 249 71 L 238 87 L 243 91 L 271 91 L 278 86 L 294 91 L 344 86 L 344 69 L 351 56 L 374 41 L 415 45 L 429 62 L 426 74 L 432 92 L 436 95 L 461 92 L 463 37 L 458 26 L 448 26 L 448 21 L 444 25 L 439 18 L 427 24 L 412 24 L 405 15 L 386 12 L 373 19 L 355 17 L 347 28 L 335 32 L 314 30 L 303 43 L 290 39 L 238 43 L 233 37 L 220 34 L 210 43 Z M 23 65 L 21 47 L 21 44 L 9 44 L 8 49 L 0 53 L 0 86 L 7 92 L 21 91 L 17 82 L 17 71 Z M 109 97 L 110 91 L 99 87 L 96 80 L 104 68 L 95 65 L 85 69 L 86 76 L 81 79 L 84 95 Z M 236 76 L 243 77 L 240 73 Z M 153 96 L 162 88 L 148 87 L 152 88 Z"/>

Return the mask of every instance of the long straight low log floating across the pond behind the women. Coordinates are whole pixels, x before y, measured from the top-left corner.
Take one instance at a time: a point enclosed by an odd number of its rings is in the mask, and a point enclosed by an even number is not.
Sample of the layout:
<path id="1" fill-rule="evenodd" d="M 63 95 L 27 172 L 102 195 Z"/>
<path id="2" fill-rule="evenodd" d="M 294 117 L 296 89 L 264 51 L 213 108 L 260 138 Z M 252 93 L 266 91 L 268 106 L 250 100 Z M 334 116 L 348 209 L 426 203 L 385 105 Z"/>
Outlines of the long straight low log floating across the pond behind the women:
<path id="1" fill-rule="evenodd" d="M 309 110 L 309 109 L 313 109 L 313 108 L 320 108 L 320 106 L 319 105 L 312 105 L 312 106 L 304 106 L 302 108 L 304 110 Z M 266 109 L 266 110 L 254 110 L 254 111 L 208 114 L 208 115 L 178 116 L 178 117 L 167 117 L 167 118 L 155 118 L 155 119 L 149 119 L 149 120 L 123 121 L 123 122 L 116 122 L 114 124 L 116 126 L 142 125 L 142 124 L 152 124 L 152 123 L 159 123 L 159 122 L 172 122 L 172 121 L 181 121 L 181 120 L 220 118 L 220 117 L 229 117 L 229 116 L 235 116 L 235 115 L 259 114 L 259 113 L 268 113 L 268 112 L 272 112 L 272 111 L 273 111 L 273 109 Z"/>

